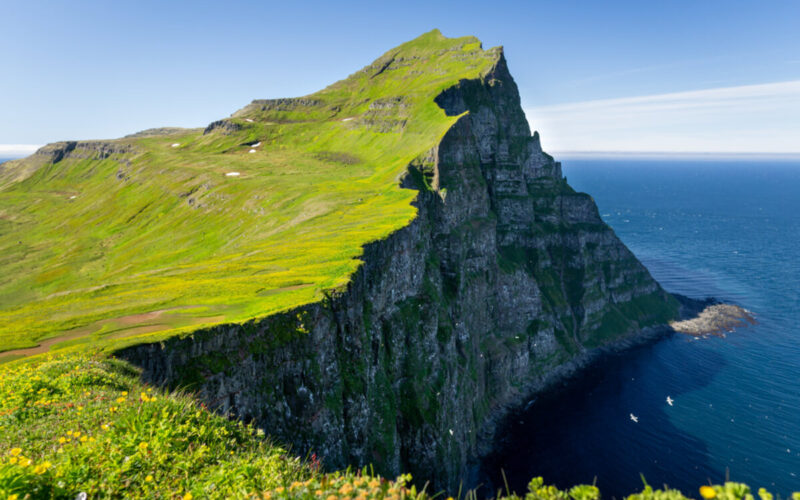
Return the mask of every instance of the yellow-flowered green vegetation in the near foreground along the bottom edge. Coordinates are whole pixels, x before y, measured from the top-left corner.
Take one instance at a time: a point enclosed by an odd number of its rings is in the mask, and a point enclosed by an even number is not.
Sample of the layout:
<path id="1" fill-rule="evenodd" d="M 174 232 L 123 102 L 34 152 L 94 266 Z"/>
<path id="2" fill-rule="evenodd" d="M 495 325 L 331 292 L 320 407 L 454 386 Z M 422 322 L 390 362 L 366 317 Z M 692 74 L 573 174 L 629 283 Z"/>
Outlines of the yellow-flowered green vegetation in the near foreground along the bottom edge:
<path id="1" fill-rule="evenodd" d="M 87 498 L 427 499 L 411 476 L 320 472 L 263 431 L 189 395 L 141 384 L 130 365 L 62 354 L 0 365 L 0 500 Z M 739 483 L 703 486 L 705 500 L 755 500 Z M 758 490 L 760 500 L 773 500 Z M 559 490 L 533 479 L 526 500 L 597 500 L 594 486 Z M 474 497 L 474 494 L 472 494 Z M 645 485 L 628 500 L 682 500 Z M 794 500 L 800 500 L 795 493 Z"/>

